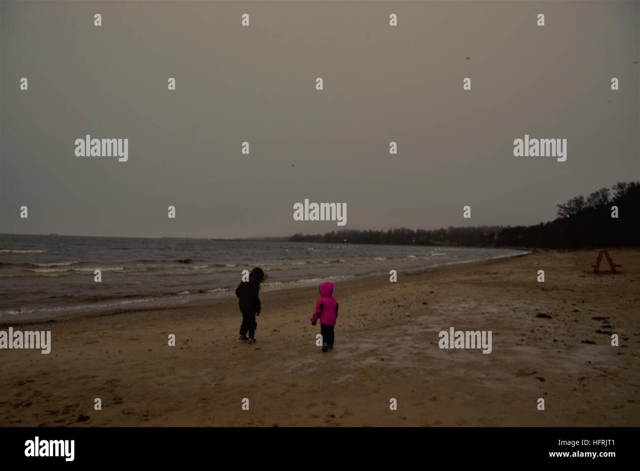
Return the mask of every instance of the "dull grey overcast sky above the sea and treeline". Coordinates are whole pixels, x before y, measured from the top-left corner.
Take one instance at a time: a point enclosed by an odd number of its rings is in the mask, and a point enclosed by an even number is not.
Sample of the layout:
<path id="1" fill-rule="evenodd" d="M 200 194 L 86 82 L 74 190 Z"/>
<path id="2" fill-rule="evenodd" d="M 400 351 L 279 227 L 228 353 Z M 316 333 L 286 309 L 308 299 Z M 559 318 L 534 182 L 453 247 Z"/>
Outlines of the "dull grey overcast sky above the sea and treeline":
<path id="1" fill-rule="evenodd" d="M 640 179 L 637 1 L 0 8 L 3 233 L 343 228 L 294 221 L 305 199 L 346 203 L 346 229 L 537 224 Z M 128 138 L 129 160 L 77 157 L 87 134 Z M 525 134 L 566 138 L 567 160 L 516 158 Z"/>

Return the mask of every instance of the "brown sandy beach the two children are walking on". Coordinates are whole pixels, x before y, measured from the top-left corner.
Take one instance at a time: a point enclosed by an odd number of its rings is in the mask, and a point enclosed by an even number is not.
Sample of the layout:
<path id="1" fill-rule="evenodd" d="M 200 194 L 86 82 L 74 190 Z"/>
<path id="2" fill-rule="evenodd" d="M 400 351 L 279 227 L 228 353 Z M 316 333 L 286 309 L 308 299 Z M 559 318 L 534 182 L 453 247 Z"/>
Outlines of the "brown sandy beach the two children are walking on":
<path id="1" fill-rule="evenodd" d="M 255 345 L 235 297 L 3 324 L 50 330 L 52 351 L 0 351 L 0 426 L 639 426 L 640 250 L 611 251 L 617 275 L 596 254 L 336 283 L 328 353 L 317 286 L 262 293 Z M 492 352 L 440 349 L 451 326 L 492 331 Z"/>

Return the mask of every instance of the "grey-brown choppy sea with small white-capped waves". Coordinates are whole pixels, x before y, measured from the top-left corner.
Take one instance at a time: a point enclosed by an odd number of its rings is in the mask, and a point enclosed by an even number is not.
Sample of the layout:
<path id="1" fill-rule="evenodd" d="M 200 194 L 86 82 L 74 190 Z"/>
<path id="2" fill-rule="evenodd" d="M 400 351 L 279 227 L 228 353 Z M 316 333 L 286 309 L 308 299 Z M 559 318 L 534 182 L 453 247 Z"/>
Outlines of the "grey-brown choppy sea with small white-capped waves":
<path id="1" fill-rule="evenodd" d="M 233 295 L 242 270 L 263 290 L 520 254 L 511 249 L 187 238 L 0 235 L 0 322 Z M 102 271 L 102 282 L 93 281 Z"/>

